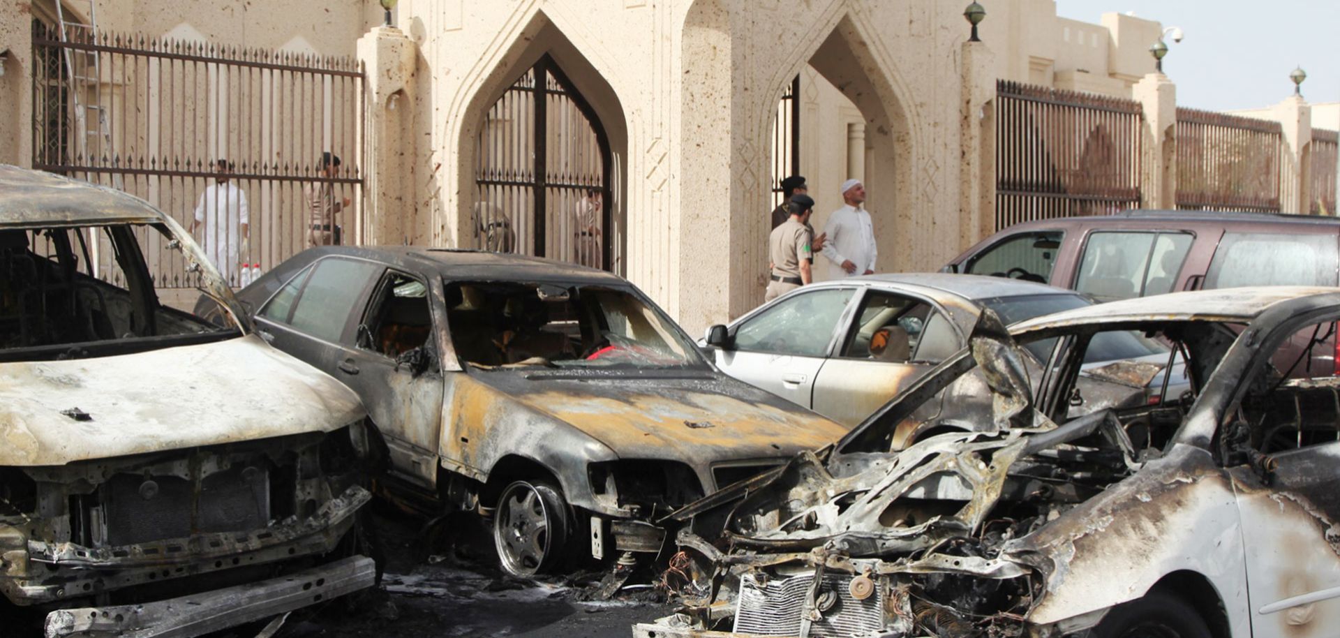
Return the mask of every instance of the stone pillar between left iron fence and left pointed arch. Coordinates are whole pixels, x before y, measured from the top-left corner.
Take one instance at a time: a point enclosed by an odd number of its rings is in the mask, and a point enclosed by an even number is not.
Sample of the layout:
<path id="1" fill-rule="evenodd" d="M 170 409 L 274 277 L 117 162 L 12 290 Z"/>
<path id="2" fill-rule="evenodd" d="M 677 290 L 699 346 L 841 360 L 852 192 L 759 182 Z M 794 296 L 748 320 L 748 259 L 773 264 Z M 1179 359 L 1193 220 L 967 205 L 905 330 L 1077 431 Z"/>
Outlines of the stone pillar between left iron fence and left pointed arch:
<path id="1" fill-rule="evenodd" d="M 358 39 L 367 88 L 363 166 L 363 228 L 367 244 L 409 244 L 414 237 L 413 105 L 417 44 L 395 27 Z"/>

